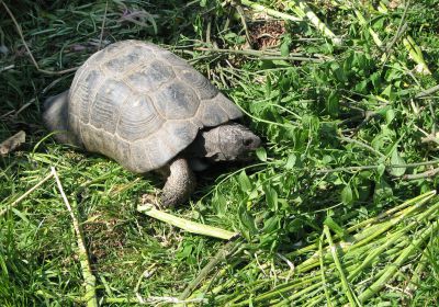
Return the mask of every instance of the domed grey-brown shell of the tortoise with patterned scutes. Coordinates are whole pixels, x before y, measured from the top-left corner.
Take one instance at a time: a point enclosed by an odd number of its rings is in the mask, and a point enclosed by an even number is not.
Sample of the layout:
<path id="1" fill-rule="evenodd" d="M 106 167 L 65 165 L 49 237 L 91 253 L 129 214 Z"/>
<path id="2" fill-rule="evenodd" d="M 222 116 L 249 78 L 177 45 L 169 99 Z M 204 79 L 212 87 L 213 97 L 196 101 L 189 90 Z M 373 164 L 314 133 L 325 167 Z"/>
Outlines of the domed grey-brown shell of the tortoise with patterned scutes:
<path id="1" fill-rule="evenodd" d="M 75 75 L 68 107 L 69 129 L 87 150 L 139 173 L 165 166 L 203 127 L 243 115 L 183 59 L 138 41 L 92 55 Z"/>

